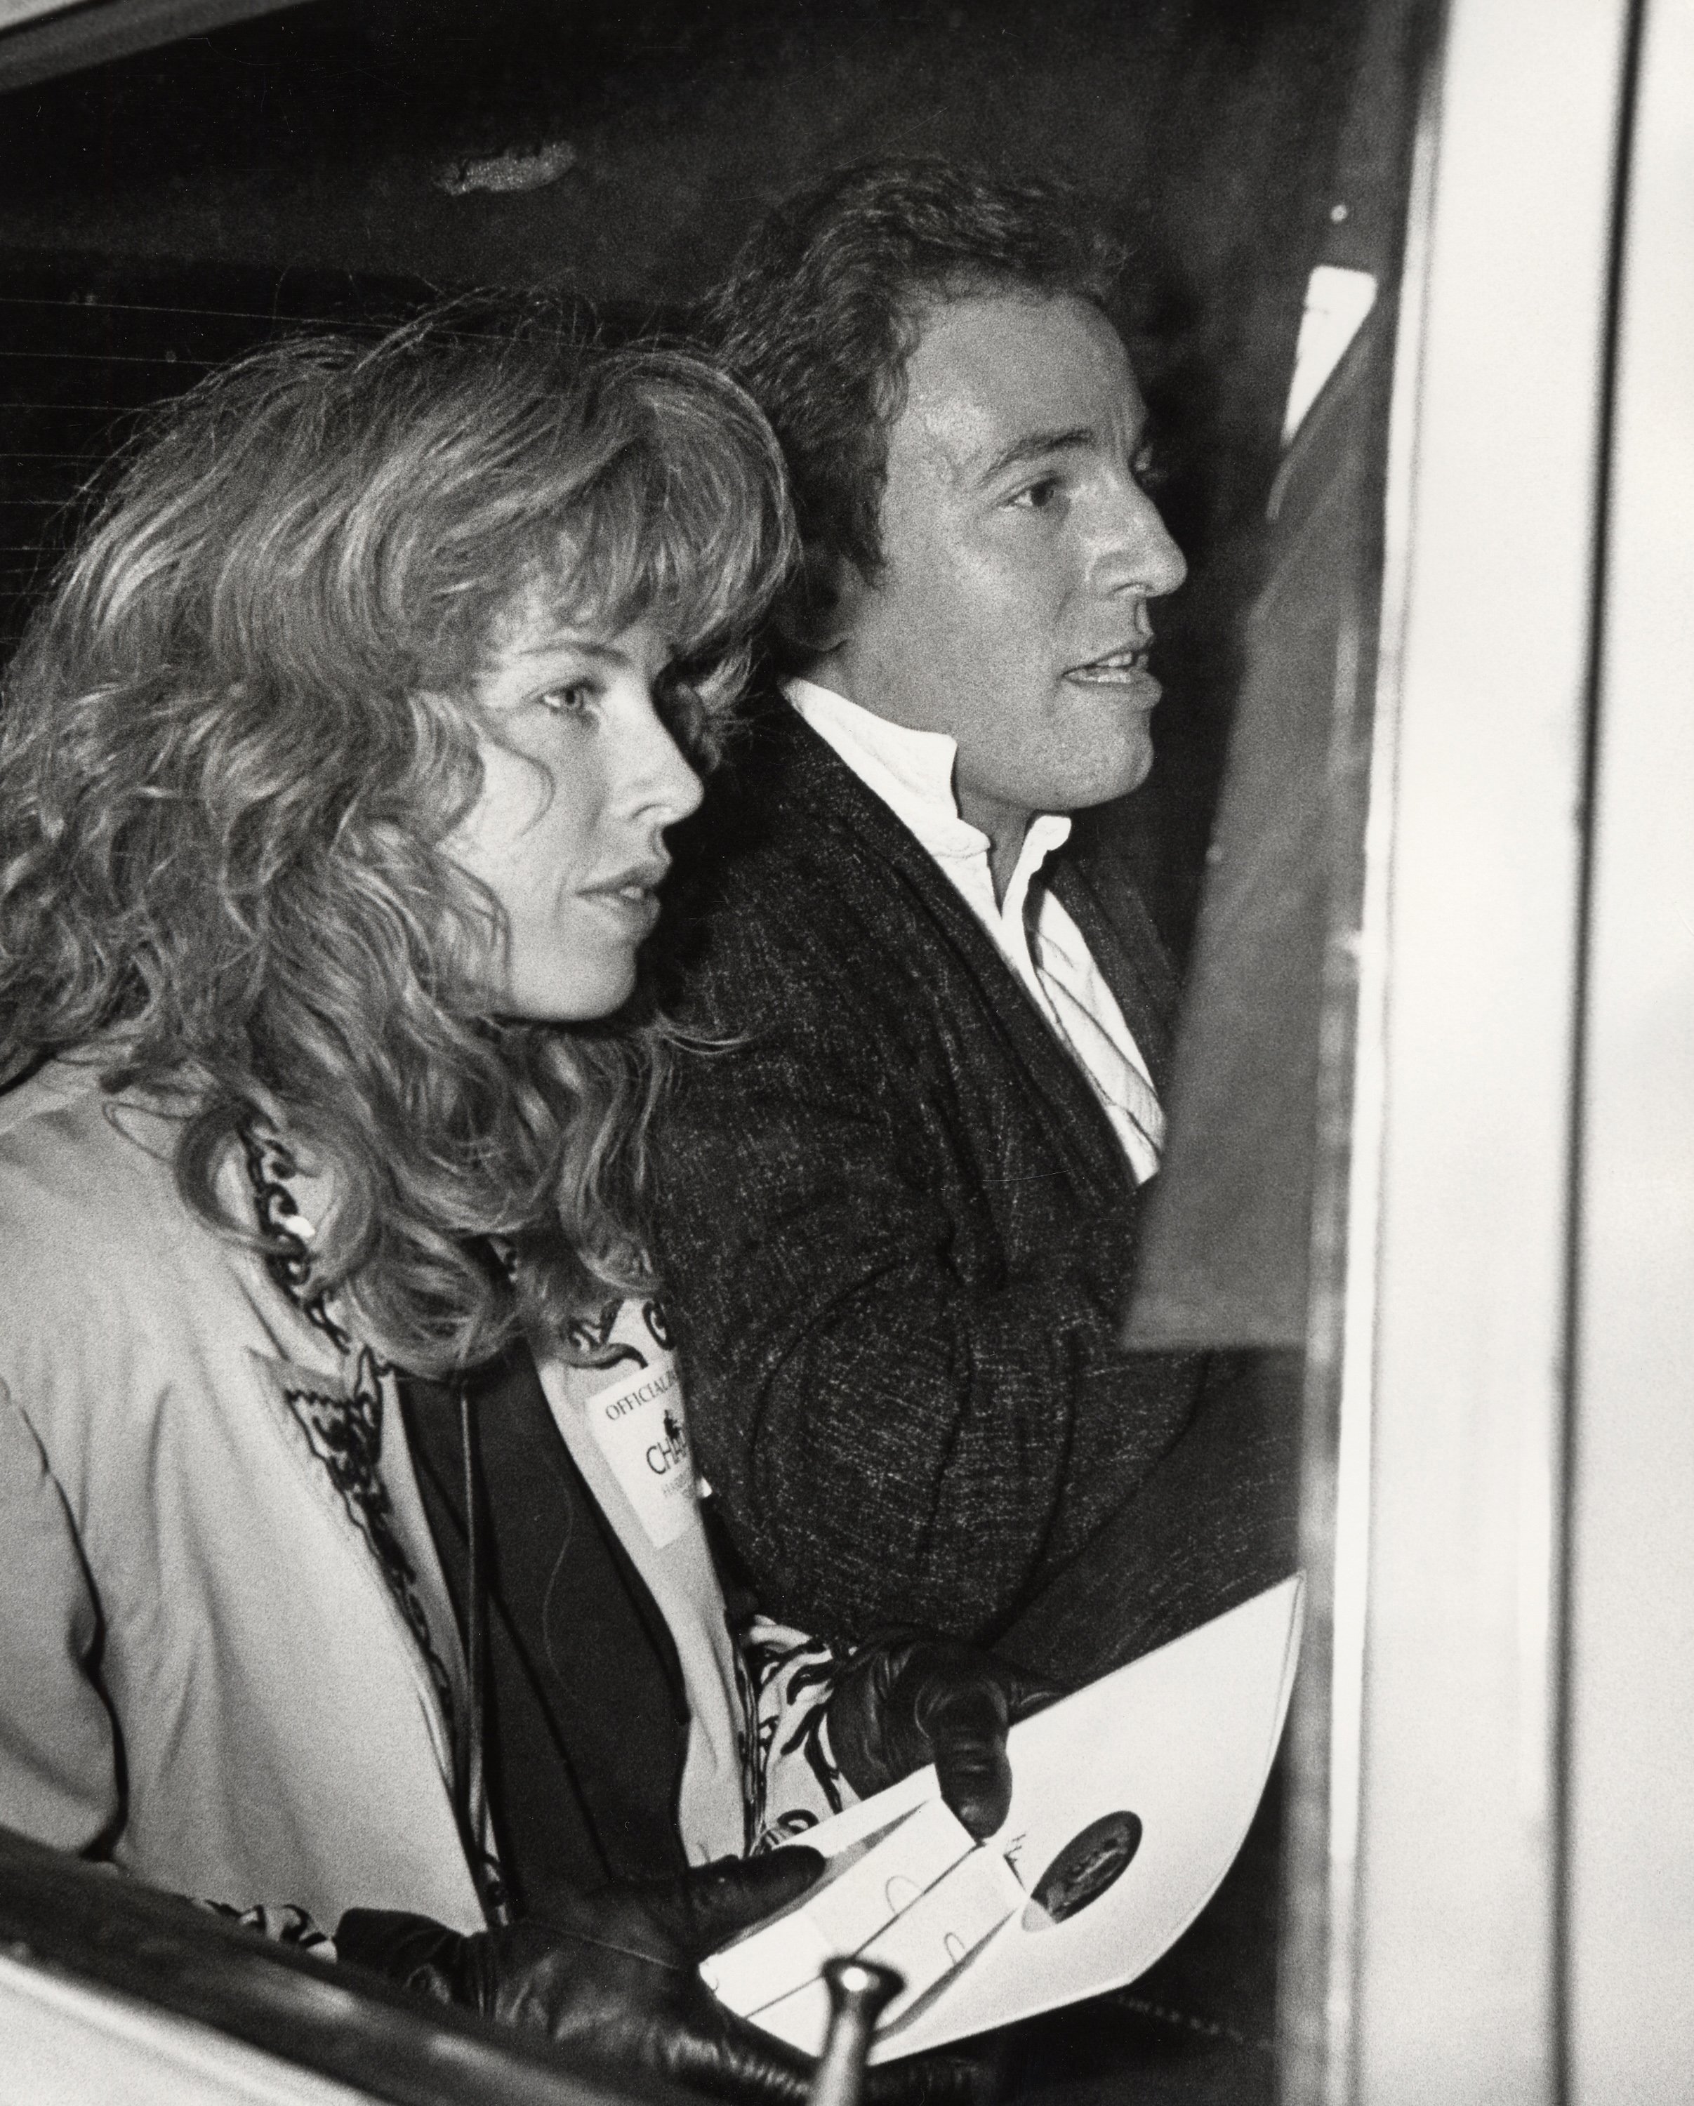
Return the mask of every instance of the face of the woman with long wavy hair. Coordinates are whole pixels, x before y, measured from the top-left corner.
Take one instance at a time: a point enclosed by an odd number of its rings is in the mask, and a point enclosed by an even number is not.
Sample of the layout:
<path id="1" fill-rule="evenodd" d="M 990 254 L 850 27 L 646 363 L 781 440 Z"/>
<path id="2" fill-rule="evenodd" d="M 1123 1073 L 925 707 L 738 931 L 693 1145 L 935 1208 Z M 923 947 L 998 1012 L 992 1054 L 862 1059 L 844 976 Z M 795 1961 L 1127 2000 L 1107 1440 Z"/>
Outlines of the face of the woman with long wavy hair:
<path id="1" fill-rule="evenodd" d="M 482 790 L 442 842 L 506 916 L 491 1013 L 569 1024 L 628 1000 L 659 918 L 664 830 L 700 804 L 653 708 L 668 661 L 647 619 L 603 636 L 541 592 L 495 630 L 474 687 Z"/>

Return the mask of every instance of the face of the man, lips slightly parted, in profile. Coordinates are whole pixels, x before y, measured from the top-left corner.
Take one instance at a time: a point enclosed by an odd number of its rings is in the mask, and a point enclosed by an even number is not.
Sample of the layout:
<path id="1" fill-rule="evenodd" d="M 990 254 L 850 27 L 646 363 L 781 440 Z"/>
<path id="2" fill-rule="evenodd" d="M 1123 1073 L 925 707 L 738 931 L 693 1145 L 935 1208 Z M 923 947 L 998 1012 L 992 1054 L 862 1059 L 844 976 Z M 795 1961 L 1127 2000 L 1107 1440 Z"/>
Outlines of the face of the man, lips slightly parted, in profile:
<path id="1" fill-rule="evenodd" d="M 849 573 L 818 676 L 959 741 L 961 813 L 997 845 L 1153 767 L 1148 600 L 1186 575 L 1136 480 L 1146 406 L 1081 299 L 935 307 L 889 430 L 883 573 Z"/>

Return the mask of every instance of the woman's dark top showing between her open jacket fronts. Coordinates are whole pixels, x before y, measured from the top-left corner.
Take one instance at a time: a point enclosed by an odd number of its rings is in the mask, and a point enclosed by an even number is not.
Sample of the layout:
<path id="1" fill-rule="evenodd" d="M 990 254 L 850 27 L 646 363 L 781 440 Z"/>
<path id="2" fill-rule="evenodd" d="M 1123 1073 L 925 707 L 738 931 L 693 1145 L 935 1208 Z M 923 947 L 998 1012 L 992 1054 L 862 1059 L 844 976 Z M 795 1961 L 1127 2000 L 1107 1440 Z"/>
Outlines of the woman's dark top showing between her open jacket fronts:
<path id="1" fill-rule="evenodd" d="M 687 1866 L 676 1799 L 687 1695 L 653 1596 L 600 1514 L 516 1348 L 472 1388 L 487 1645 L 485 1773 L 520 1906 Z M 402 1377 L 400 1405 L 459 1632 L 468 1617 L 457 1394 Z"/>

